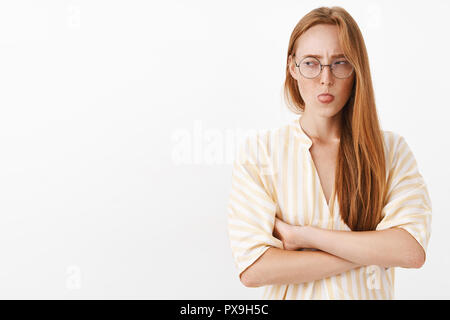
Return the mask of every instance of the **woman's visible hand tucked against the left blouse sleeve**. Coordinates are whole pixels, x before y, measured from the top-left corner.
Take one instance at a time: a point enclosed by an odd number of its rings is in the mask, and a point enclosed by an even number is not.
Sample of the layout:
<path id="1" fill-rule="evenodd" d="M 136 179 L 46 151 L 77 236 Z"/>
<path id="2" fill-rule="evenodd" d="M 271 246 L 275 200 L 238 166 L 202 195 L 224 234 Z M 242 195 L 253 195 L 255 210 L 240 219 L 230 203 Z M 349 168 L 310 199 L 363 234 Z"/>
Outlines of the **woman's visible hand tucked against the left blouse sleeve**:
<path id="1" fill-rule="evenodd" d="M 275 217 L 273 235 L 283 242 L 285 250 L 309 248 L 306 241 L 307 227 L 294 226 Z"/>

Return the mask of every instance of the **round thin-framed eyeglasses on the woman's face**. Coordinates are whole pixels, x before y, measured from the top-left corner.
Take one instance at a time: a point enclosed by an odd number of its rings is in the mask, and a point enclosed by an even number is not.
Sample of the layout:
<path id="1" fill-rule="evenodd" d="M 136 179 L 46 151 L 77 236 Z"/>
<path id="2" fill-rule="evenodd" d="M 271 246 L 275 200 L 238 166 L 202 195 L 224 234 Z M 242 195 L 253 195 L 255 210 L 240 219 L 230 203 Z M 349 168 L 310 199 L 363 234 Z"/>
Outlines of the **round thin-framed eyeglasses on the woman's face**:
<path id="1" fill-rule="evenodd" d="M 301 75 L 308 79 L 318 77 L 323 67 L 330 67 L 333 75 L 339 79 L 346 79 L 353 73 L 353 66 L 345 58 L 336 59 L 332 64 L 321 64 L 315 57 L 305 57 L 300 61 L 300 64 L 295 61 L 295 66 L 298 67 Z"/>

